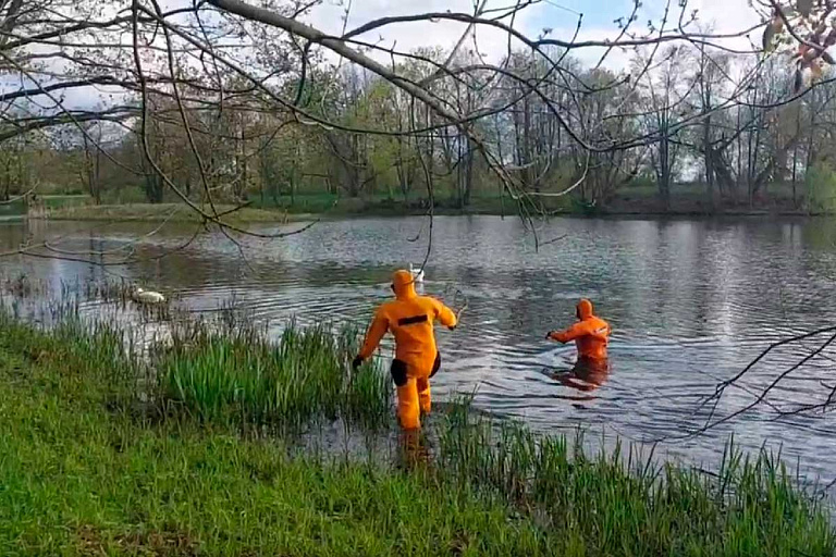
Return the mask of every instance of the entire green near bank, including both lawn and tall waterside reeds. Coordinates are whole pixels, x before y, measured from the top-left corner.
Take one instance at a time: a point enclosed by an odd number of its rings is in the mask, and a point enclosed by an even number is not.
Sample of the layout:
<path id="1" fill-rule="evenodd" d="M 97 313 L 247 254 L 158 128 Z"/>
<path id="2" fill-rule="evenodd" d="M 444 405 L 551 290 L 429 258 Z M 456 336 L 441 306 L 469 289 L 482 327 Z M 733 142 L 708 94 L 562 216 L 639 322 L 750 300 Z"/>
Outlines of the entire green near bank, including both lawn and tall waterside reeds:
<path id="1" fill-rule="evenodd" d="M 135 360 L 119 330 L 0 315 L 3 555 L 833 555 L 829 517 L 766 456 L 716 474 L 452 405 L 409 470 L 288 456 L 307 420 L 389 428 L 349 332 L 268 343 L 195 325 Z M 355 383 L 359 380 L 359 383 Z M 296 386 L 288 385 L 296 383 Z M 383 397 L 383 401 L 374 400 Z M 378 417 L 378 419 L 373 419 Z M 353 419 L 354 418 L 354 419 Z M 362 418 L 362 419 L 357 419 Z M 286 428 L 251 428 L 258 424 Z"/>

